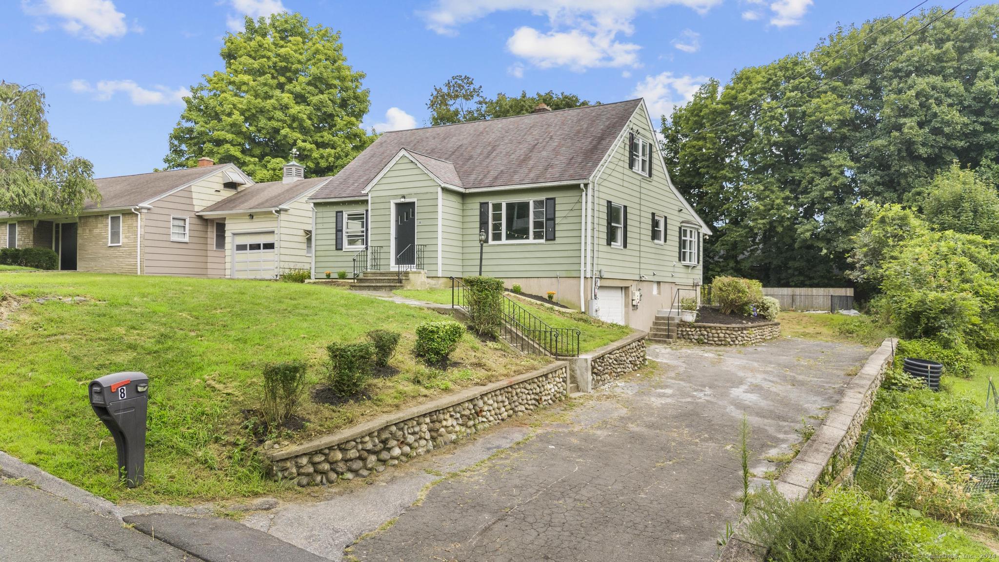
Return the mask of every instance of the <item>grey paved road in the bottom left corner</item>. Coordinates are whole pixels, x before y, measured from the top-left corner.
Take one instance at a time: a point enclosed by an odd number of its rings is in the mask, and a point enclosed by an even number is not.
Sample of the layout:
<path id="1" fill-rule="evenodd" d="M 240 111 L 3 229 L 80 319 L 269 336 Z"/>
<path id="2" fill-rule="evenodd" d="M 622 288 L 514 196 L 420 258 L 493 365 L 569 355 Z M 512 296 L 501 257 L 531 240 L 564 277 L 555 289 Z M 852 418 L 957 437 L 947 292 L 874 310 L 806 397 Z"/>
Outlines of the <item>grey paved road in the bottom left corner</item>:
<path id="1" fill-rule="evenodd" d="M 197 561 L 121 522 L 26 485 L 0 481 L 0 560 Z"/>

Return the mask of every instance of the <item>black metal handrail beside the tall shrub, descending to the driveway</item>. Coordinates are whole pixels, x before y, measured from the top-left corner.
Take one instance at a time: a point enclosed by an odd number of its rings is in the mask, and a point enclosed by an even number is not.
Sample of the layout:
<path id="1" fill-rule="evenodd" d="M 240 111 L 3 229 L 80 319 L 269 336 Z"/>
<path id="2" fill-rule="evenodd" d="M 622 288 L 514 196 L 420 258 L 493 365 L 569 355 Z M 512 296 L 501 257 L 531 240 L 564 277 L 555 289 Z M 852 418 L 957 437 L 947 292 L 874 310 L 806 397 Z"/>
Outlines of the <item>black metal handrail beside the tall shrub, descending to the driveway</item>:
<path id="1" fill-rule="evenodd" d="M 469 292 L 461 279 L 451 278 L 451 307 L 461 308 L 471 316 Z M 524 352 L 540 349 L 552 357 L 579 355 L 578 329 L 551 327 L 505 295 L 501 306 L 500 337 L 513 347 Z"/>

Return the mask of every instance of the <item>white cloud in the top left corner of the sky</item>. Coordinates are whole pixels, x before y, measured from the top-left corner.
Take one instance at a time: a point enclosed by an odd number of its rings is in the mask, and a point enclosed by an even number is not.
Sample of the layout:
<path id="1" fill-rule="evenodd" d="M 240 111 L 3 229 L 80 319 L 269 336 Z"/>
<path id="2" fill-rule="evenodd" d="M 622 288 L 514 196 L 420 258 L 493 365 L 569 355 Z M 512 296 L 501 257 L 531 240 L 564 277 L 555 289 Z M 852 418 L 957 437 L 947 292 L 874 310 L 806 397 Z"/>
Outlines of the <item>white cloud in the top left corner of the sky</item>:
<path id="1" fill-rule="evenodd" d="M 35 26 L 37 31 L 49 29 L 45 21 L 48 17 L 61 20 L 60 27 L 66 33 L 96 42 L 121 37 L 130 30 L 125 14 L 119 12 L 111 0 L 41 0 L 37 3 L 22 0 L 21 9 L 40 18 Z M 131 30 L 142 32 L 138 25 L 133 25 Z"/>

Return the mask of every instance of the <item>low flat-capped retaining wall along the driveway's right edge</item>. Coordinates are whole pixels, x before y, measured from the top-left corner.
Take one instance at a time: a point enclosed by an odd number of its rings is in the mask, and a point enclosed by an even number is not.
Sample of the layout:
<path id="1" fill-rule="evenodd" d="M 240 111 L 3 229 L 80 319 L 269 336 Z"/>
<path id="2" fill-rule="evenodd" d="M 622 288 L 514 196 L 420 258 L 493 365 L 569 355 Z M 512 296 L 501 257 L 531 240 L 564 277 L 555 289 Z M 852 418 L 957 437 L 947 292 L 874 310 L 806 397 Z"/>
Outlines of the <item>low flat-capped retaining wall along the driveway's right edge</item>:
<path id="1" fill-rule="evenodd" d="M 777 491 L 792 500 L 803 499 L 832 482 L 846 467 L 860 439 L 860 427 L 888 366 L 895 358 L 898 340 L 887 338 L 846 386 L 836 408 L 775 482 Z M 745 521 L 722 549 L 720 562 L 762 562 L 766 549 L 741 535 Z"/>

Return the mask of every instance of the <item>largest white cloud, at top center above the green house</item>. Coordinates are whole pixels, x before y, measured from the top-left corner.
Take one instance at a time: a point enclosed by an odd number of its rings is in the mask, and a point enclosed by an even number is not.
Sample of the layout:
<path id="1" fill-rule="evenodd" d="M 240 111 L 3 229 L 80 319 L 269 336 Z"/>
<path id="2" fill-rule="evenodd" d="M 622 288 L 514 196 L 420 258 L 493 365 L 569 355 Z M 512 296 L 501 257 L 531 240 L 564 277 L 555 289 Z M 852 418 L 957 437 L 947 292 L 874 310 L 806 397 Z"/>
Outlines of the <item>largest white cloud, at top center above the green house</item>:
<path id="1" fill-rule="evenodd" d="M 685 6 L 703 14 L 722 0 L 437 0 L 421 12 L 427 26 L 445 35 L 456 35 L 465 23 L 494 12 L 526 11 L 547 17 L 550 29 L 516 28 L 506 47 L 531 63 L 549 68 L 567 66 L 583 71 L 592 67 L 639 66 L 640 46 L 623 42 L 618 34 L 631 35 L 632 21 L 641 11 L 663 6 Z"/>

